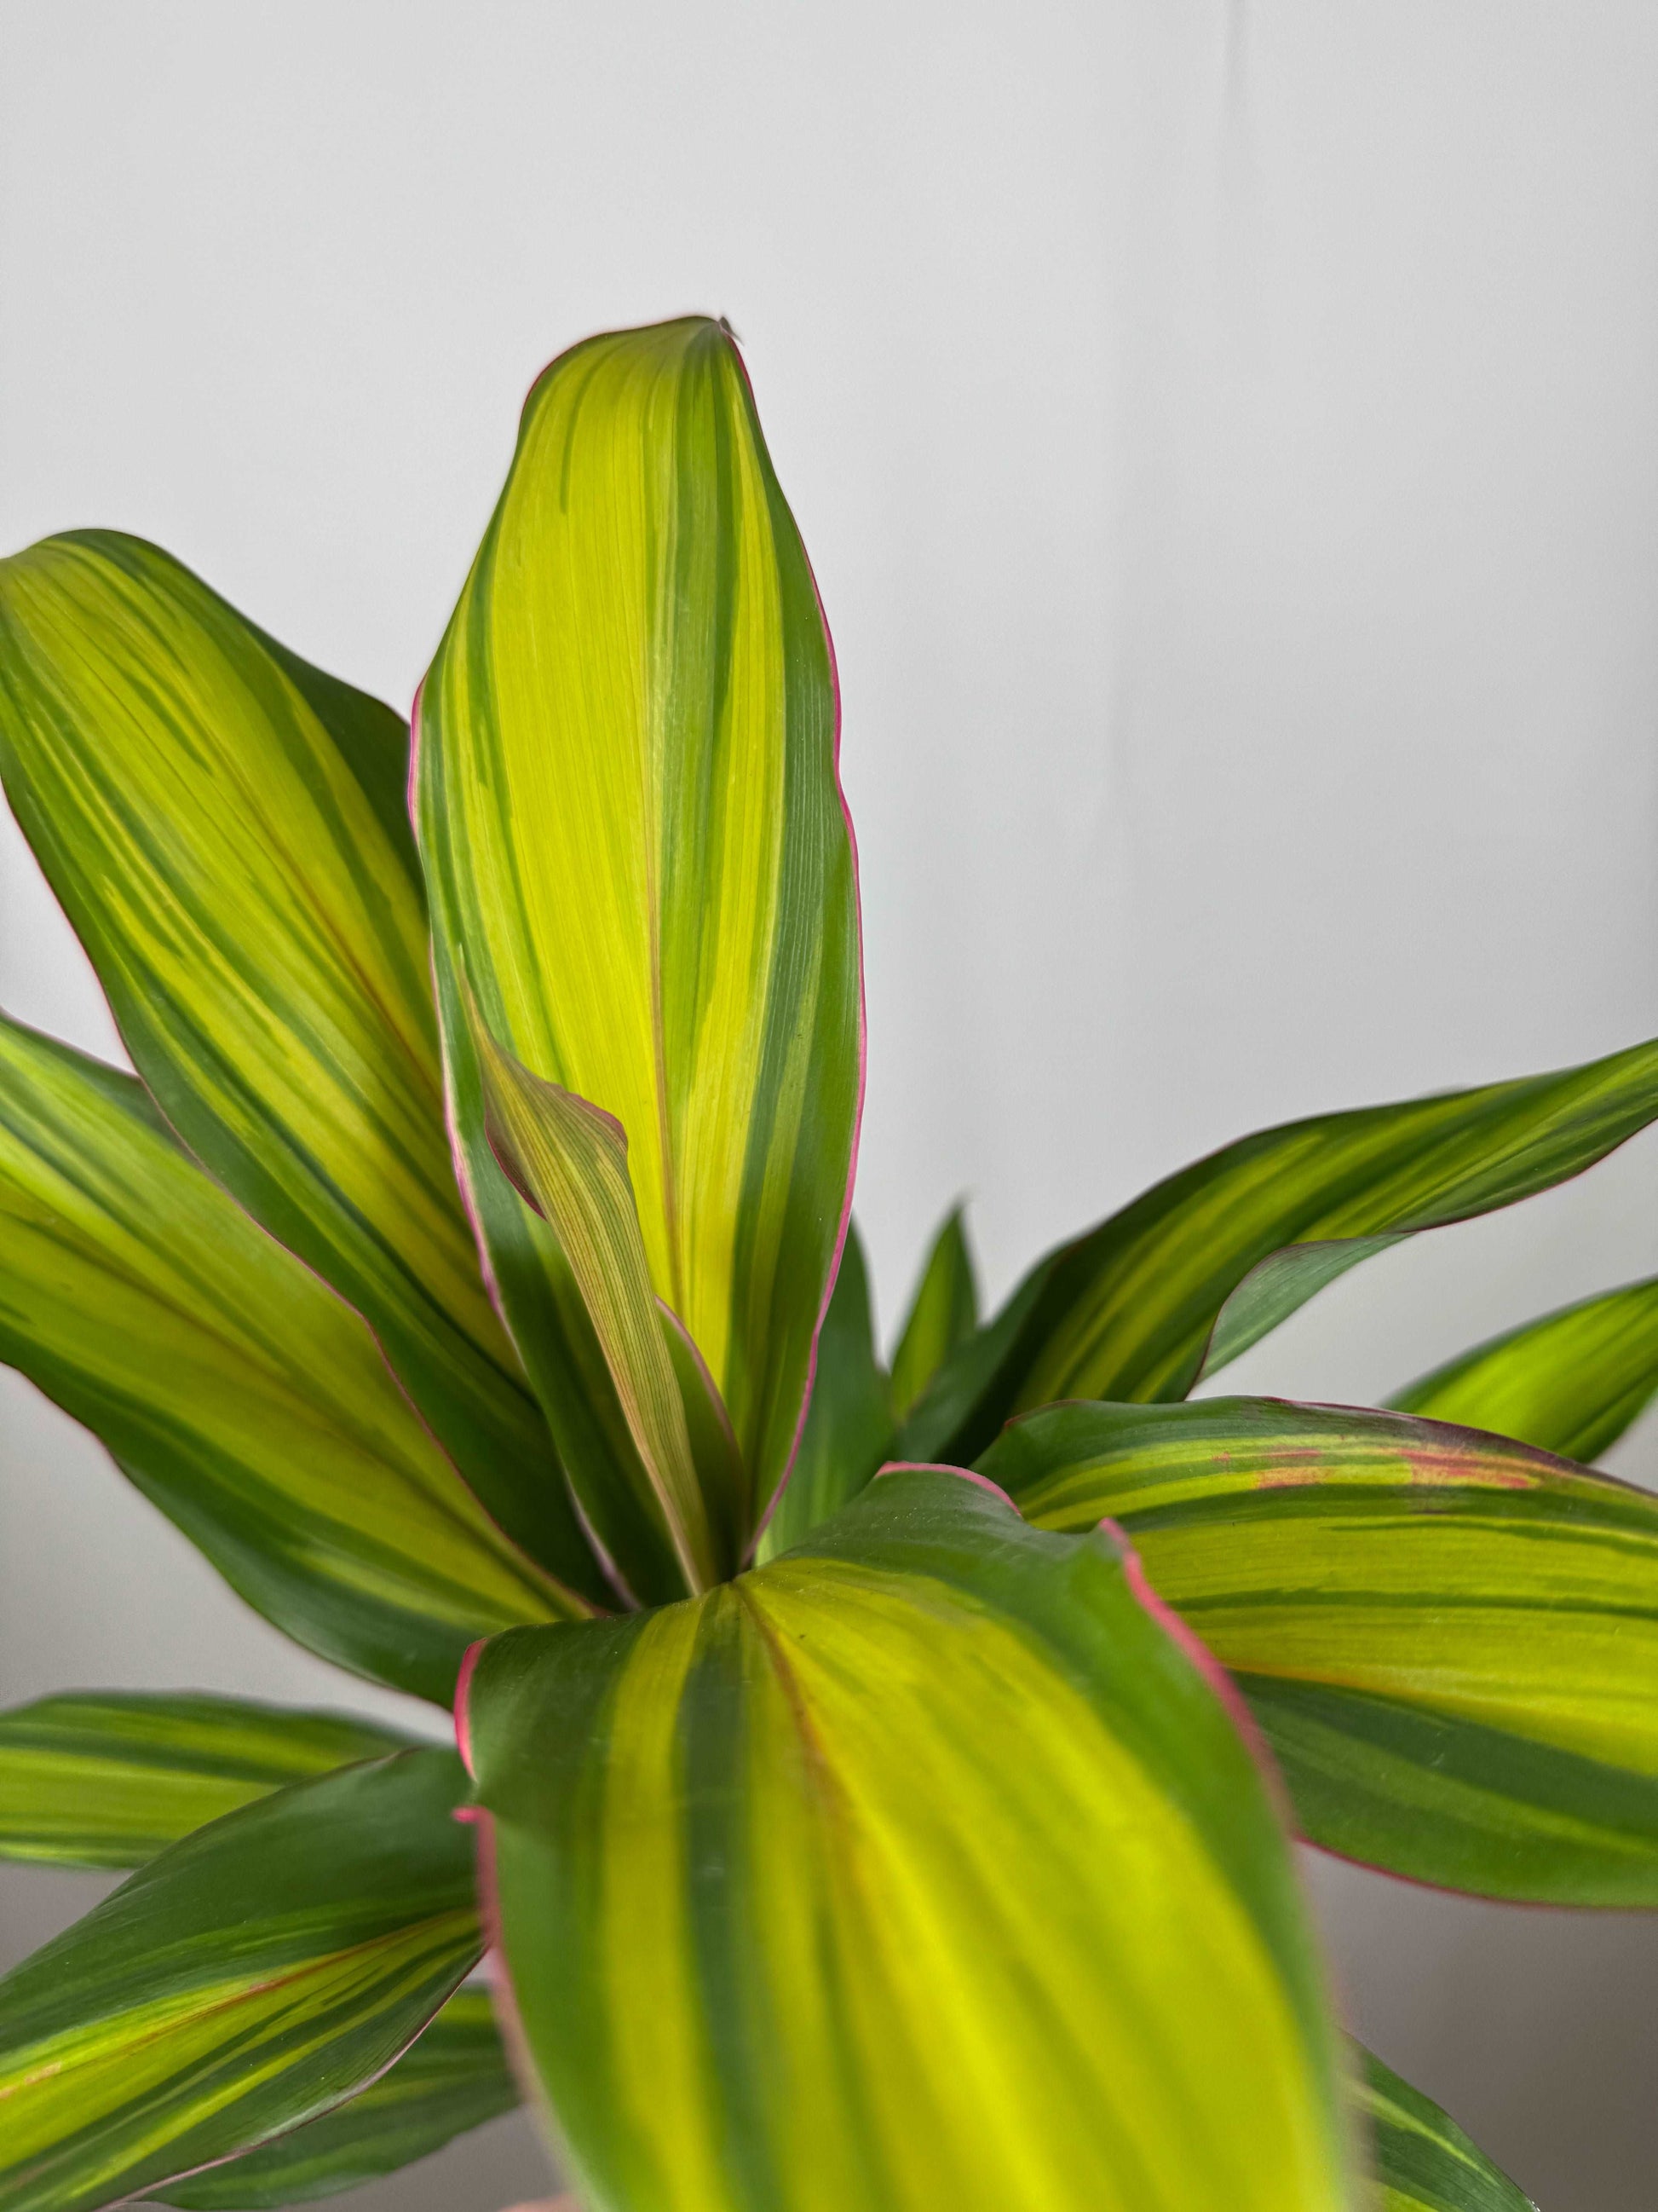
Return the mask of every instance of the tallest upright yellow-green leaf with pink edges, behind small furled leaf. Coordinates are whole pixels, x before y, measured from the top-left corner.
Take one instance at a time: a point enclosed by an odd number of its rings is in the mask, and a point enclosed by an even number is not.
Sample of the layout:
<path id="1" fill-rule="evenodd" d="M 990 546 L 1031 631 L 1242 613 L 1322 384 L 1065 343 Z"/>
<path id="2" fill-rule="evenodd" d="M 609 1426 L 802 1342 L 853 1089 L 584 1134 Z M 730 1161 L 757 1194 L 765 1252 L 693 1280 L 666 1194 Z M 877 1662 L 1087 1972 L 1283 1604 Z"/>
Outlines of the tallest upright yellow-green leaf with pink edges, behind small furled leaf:
<path id="1" fill-rule="evenodd" d="M 836 719 L 730 334 L 688 319 L 555 361 L 420 695 L 418 832 L 473 1206 L 641 1597 L 683 1577 L 639 1535 L 557 1239 L 489 1157 L 460 980 L 515 1060 L 626 1130 L 650 1281 L 730 1409 L 752 1531 L 794 1453 L 862 1091 Z"/>

